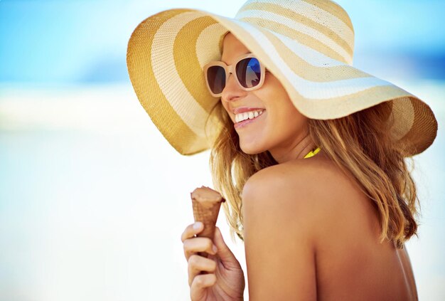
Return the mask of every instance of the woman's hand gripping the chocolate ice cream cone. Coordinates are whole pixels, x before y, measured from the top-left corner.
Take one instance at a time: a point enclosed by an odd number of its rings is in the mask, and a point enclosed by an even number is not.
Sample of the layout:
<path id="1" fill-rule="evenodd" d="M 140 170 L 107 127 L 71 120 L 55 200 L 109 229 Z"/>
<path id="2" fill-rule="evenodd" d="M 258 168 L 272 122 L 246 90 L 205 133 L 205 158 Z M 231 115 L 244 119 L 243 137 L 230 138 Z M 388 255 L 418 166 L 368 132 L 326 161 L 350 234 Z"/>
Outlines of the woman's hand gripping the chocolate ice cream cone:
<path id="1" fill-rule="evenodd" d="M 198 228 L 193 228 L 193 225 L 198 225 Z M 240 263 L 225 244 L 220 228 L 215 228 L 213 239 L 216 252 L 210 238 L 195 237 L 203 228 L 203 223 L 193 223 L 181 236 L 188 262 L 191 300 L 243 300 L 245 280 Z M 208 253 L 208 258 L 198 255 L 198 252 Z M 203 271 L 204 274 L 201 273 Z"/>

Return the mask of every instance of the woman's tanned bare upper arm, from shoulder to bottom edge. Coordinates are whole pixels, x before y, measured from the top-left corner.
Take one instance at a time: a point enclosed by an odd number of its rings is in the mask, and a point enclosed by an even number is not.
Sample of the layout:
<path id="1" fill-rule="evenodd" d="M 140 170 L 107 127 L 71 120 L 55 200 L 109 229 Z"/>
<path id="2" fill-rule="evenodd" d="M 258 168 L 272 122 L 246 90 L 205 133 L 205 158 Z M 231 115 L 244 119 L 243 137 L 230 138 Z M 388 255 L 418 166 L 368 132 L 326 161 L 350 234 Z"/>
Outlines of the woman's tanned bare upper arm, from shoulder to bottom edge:
<path id="1" fill-rule="evenodd" d="M 247 279 L 251 301 L 316 300 L 316 211 L 305 183 L 281 167 L 254 174 L 243 189 Z M 298 191 L 298 193 L 296 193 Z"/>

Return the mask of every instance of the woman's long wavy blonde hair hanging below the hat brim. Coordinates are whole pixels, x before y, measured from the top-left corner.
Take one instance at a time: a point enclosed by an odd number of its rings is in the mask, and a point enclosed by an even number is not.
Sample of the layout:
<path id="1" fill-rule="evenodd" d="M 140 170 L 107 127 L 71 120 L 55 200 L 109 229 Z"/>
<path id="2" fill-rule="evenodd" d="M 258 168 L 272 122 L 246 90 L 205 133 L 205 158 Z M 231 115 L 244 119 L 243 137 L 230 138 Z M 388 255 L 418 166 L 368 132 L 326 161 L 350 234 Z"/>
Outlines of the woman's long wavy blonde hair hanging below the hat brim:
<path id="1" fill-rule="evenodd" d="M 404 147 L 390 137 L 392 102 L 382 102 L 360 112 L 334 120 L 309 119 L 312 141 L 343 171 L 349 171 L 372 201 L 378 213 L 380 241 L 404 241 L 417 233 L 419 201 L 416 186 L 405 162 Z M 222 122 L 210 152 L 210 171 L 215 189 L 226 202 L 223 209 L 235 242 L 242 236 L 242 188 L 257 171 L 277 162 L 269 152 L 245 154 L 237 132 L 221 102 L 211 113 Z M 414 162 L 411 160 L 411 167 Z"/>

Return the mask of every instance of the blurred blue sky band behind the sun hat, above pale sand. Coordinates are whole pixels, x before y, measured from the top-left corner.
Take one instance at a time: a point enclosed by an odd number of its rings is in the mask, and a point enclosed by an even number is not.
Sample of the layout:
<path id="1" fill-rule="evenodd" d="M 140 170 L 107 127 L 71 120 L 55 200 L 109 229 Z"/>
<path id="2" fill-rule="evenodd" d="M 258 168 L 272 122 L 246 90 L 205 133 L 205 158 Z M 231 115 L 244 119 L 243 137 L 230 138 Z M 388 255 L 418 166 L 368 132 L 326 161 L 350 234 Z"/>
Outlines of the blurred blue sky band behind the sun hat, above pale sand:
<path id="1" fill-rule="evenodd" d="M 127 82 L 127 41 L 147 16 L 178 7 L 235 16 L 244 2 L 0 0 L 0 82 Z M 384 78 L 445 78 L 445 1 L 337 2 L 353 21 L 356 67 Z"/>

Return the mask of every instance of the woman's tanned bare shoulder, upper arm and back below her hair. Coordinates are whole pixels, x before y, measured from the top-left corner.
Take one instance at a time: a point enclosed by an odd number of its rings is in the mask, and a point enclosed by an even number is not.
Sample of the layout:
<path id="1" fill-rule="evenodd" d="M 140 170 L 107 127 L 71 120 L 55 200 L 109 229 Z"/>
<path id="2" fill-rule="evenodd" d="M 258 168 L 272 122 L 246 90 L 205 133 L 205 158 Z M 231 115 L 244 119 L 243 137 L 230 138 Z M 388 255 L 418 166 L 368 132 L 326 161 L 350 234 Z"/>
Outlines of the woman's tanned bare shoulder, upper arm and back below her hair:
<path id="1" fill-rule="evenodd" d="M 416 295 L 407 254 L 380 243 L 377 211 L 358 181 L 330 160 L 315 158 L 262 169 L 245 184 L 252 300 L 345 300 L 345 292 L 350 300 Z"/>

